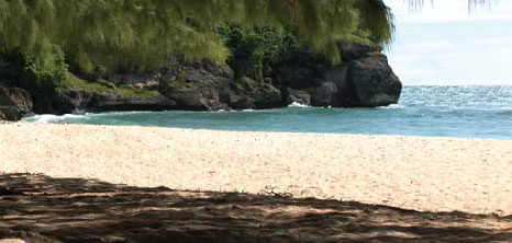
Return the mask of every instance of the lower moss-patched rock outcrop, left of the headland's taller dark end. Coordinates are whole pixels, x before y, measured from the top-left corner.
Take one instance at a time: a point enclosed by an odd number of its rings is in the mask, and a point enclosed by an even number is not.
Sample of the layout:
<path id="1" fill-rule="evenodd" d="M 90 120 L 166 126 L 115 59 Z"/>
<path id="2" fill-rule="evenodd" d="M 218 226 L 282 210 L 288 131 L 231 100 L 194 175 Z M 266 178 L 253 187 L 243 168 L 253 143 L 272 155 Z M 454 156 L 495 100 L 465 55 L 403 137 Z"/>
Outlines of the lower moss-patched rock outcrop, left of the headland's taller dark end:
<path id="1" fill-rule="evenodd" d="M 274 108 L 282 105 L 280 91 L 269 83 L 244 79 L 233 81 L 229 67 L 208 60 L 174 63 L 153 74 L 115 74 L 102 92 L 70 88 L 56 95 L 51 113 L 76 111 L 219 111 Z M 120 94 L 119 89 L 134 93 Z M 152 95 L 137 95 L 137 90 Z"/>

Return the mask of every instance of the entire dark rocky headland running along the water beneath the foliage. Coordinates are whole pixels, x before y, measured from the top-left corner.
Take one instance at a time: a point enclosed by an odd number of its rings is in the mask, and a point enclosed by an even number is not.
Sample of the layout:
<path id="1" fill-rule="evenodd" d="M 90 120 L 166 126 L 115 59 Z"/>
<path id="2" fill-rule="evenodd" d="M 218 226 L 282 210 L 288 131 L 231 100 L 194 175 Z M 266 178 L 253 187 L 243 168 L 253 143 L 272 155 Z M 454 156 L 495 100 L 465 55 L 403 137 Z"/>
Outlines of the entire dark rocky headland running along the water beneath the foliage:
<path id="1" fill-rule="evenodd" d="M 263 81 L 234 81 L 229 67 L 209 61 L 176 62 L 154 73 L 111 74 L 86 82 L 74 78 L 54 95 L 37 96 L 36 113 L 76 111 L 218 111 L 313 106 L 375 107 L 394 104 L 401 82 L 387 58 L 366 44 L 340 44 L 343 62 L 332 66 L 297 51 L 264 69 Z M 1 70 L 0 70 L 1 71 Z M 1 116 L 0 116 L 1 117 Z"/>

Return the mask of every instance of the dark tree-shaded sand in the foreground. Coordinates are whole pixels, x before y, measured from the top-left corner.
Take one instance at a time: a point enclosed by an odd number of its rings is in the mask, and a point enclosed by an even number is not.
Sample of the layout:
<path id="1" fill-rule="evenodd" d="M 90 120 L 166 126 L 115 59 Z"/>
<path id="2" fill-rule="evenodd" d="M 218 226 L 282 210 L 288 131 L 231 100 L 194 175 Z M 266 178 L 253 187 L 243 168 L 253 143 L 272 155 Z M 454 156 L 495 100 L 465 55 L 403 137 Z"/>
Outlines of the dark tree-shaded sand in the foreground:
<path id="1" fill-rule="evenodd" d="M 512 216 L 0 175 L 0 239 L 26 242 L 512 242 Z"/>

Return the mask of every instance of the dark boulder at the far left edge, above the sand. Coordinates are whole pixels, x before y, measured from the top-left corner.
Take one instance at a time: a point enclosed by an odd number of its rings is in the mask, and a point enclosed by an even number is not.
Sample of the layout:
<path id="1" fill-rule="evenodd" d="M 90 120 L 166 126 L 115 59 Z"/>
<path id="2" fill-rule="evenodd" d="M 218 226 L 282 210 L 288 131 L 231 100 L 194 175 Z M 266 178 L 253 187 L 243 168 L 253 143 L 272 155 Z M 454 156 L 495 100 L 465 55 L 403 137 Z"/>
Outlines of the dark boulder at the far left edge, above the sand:
<path id="1" fill-rule="evenodd" d="M 0 86 L 0 120 L 20 120 L 32 112 L 32 100 L 25 90 Z"/>

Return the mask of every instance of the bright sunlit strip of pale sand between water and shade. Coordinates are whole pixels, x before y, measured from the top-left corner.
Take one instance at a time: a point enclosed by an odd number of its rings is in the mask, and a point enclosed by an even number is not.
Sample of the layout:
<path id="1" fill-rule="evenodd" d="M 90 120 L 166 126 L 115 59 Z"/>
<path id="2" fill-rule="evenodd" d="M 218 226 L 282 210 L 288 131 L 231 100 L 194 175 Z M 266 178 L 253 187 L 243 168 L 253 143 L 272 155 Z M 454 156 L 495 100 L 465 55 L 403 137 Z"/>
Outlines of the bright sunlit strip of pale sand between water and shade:
<path id="1" fill-rule="evenodd" d="M 512 213 L 512 141 L 0 125 L 0 173 Z"/>

